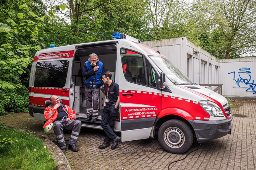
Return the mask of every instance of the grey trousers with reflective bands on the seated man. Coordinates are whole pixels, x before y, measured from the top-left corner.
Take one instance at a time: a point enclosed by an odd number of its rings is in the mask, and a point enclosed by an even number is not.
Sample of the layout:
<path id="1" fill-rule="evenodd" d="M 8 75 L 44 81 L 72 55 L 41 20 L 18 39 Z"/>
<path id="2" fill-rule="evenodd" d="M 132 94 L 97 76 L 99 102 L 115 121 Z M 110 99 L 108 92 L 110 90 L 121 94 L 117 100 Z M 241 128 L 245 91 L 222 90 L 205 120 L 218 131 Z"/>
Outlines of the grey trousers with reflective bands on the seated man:
<path id="1" fill-rule="evenodd" d="M 63 129 L 67 129 L 69 131 L 72 131 L 70 139 L 69 139 L 69 145 L 76 146 L 76 142 L 78 140 L 78 136 L 81 129 L 81 121 L 73 119 L 68 122 L 62 122 L 62 121 L 55 121 L 53 124 L 54 133 L 57 137 L 57 140 L 59 142 L 59 148 L 63 149 L 66 148 L 66 142 L 63 135 Z"/>

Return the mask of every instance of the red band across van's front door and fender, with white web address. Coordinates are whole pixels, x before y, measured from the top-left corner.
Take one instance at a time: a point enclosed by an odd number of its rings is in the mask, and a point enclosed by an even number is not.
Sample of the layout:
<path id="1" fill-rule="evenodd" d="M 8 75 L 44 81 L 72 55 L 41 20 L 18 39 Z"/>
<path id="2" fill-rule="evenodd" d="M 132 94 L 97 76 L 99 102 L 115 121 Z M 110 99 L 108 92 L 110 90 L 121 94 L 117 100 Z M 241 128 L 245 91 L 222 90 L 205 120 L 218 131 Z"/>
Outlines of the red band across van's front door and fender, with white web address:
<path id="1" fill-rule="evenodd" d="M 124 96 L 122 93 L 133 93 L 133 96 Z M 138 107 L 122 106 L 121 120 L 177 115 L 186 120 L 207 121 L 210 117 L 197 101 L 189 99 L 136 90 L 133 92 L 131 90 L 119 90 L 119 96 L 121 103 L 138 104 Z M 140 105 L 149 106 L 142 107 Z"/>

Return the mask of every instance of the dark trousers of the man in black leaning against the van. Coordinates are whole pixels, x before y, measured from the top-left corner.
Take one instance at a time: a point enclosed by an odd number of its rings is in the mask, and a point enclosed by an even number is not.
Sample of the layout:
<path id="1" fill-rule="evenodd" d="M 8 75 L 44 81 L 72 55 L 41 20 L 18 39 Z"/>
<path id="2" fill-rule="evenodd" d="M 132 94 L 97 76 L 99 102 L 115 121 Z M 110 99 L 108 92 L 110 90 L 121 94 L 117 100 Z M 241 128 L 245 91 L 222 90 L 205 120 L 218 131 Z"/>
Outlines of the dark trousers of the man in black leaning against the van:
<path id="1" fill-rule="evenodd" d="M 106 105 L 104 106 L 102 115 L 101 115 L 101 126 L 104 132 L 107 134 L 104 141 L 109 143 L 111 140 L 116 138 L 116 134 L 114 133 L 115 129 L 115 121 L 118 116 L 119 106 L 116 109 L 115 105 Z"/>

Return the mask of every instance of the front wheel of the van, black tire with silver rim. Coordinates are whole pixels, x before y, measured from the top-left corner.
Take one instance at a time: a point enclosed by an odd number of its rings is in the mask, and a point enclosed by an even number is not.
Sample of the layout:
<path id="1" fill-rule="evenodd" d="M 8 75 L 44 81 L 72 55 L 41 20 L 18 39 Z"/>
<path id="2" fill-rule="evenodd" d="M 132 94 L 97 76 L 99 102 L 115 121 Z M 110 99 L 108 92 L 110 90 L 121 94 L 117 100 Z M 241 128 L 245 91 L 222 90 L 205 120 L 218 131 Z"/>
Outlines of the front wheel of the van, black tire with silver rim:
<path id="1" fill-rule="evenodd" d="M 172 119 L 164 122 L 158 131 L 158 141 L 170 153 L 181 154 L 189 150 L 194 140 L 190 127 L 183 121 Z"/>

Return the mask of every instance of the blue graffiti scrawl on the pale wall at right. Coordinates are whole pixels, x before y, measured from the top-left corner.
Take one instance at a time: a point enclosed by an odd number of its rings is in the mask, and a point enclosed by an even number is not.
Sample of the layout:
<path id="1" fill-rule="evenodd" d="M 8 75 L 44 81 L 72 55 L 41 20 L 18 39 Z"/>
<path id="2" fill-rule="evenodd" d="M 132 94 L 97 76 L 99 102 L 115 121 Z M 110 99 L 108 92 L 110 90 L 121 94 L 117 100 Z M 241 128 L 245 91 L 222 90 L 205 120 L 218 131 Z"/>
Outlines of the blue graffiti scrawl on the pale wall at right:
<path id="1" fill-rule="evenodd" d="M 246 92 L 252 92 L 256 94 L 256 82 L 252 80 L 250 68 L 239 68 L 239 72 L 232 71 L 228 74 L 234 74 L 233 80 L 236 82 L 237 87 L 234 88 L 246 88 Z"/>

